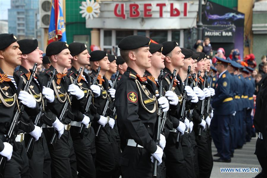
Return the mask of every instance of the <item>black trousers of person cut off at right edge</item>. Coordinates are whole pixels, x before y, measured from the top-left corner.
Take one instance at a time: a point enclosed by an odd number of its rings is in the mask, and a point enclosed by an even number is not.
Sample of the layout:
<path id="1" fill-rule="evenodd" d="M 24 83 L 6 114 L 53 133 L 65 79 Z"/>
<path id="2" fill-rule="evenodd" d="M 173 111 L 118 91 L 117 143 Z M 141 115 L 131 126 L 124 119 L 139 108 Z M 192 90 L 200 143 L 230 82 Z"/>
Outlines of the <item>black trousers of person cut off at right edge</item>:
<path id="1" fill-rule="evenodd" d="M 265 140 L 258 138 L 256 142 L 255 155 L 257 155 L 258 161 L 262 168 L 261 173 L 258 174 L 257 178 L 267 177 L 267 152 L 264 144 Z"/>

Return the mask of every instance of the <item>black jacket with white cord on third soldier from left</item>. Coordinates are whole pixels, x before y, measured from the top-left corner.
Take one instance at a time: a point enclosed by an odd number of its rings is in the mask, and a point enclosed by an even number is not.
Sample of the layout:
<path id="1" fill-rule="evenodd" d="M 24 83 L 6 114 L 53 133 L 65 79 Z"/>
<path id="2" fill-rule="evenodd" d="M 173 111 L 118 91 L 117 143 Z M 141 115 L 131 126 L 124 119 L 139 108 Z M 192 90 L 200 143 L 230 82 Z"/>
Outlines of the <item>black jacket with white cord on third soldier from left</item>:
<path id="1" fill-rule="evenodd" d="M 40 76 L 43 78 L 43 84 L 45 86 L 47 85 L 48 81 L 50 81 L 51 71 L 53 71 L 53 69 L 54 67 L 51 65 L 49 69 L 45 70 L 43 73 L 40 74 Z M 56 71 L 56 74 L 58 74 L 57 71 Z M 53 103 L 48 103 L 47 108 L 46 108 L 46 111 L 50 113 L 50 115 L 47 118 L 47 122 L 50 121 L 50 123 L 46 123 L 49 126 L 52 126 L 52 123 L 55 122 L 56 117 L 59 118 L 60 113 L 64 106 L 64 102 L 62 101 L 68 100 L 68 97 L 66 94 L 68 93 L 68 87 L 70 85 L 69 79 L 67 78 L 67 76 L 64 76 L 61 79 L 61 82 L 59 85 L 56 83 L 56 81 L 57 81 L 57 77 L 55 75 L 55 77 L 53 78 L 54 86 L 53 86 L 53 83 L 51 86 L 51 89 L 54 90 L 55 100 Z M 61 99 L 61 101 L 59 100 L 59 98 Z M 74 115 L 71 113 L 71 107 L 69 107 L 66 119 L 63 124 L 69 124 L 70 121 L 73 119 L 74 119 Z"/>

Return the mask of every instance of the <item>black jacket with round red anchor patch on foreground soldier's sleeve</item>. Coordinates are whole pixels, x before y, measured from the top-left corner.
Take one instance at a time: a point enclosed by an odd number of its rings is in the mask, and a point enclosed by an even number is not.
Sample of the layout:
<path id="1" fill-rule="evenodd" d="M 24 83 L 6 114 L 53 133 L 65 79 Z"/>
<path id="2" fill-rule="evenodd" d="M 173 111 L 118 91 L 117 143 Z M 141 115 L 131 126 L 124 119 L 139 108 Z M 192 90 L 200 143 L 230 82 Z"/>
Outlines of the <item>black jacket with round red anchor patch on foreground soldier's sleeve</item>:
<path id="1" fill-rule="evenodd" d="M 143 77 L 143 76 L 141 76 Z M 117 122 L 122 139 L 134 139 L 151 154 L 157 150 L 154 131 L 157 120 L 155 88 L 127 68 L 115 94 Z"/>

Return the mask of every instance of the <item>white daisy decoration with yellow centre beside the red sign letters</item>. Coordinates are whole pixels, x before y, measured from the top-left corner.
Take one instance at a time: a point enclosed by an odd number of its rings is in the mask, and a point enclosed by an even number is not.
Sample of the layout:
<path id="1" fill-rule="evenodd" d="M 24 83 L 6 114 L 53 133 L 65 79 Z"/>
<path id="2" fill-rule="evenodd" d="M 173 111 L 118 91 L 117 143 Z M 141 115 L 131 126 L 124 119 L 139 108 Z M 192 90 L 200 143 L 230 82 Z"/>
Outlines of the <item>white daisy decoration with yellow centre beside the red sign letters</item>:
<path id="1" fill-rule="evenodd" d="M 93 19 L 94 17 L 98 17 L 100 13 L 100 5 L 98 2 L 95 2 L 94 0 L 86 0 L 83 1 L 82 6 L 80 6 L 80 14 L 82 14 L 82 17 L 85 17 L 88 19 L 89 17 Z"/>

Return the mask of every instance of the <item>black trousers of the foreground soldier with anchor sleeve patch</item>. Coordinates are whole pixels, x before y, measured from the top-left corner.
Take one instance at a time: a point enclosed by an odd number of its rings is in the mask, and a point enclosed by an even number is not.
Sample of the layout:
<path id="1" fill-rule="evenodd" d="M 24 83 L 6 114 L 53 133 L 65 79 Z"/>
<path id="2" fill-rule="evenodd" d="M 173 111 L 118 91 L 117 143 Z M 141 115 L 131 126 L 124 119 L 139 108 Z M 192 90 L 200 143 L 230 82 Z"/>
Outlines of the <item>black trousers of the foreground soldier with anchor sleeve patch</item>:
<path id="1" fill-rule="evenodd" d="M 126 146 L 121 155 L 121 172 L 124 178 L 151 178 L 151 154 L 144 148 Z"/>

